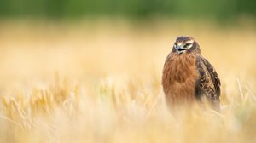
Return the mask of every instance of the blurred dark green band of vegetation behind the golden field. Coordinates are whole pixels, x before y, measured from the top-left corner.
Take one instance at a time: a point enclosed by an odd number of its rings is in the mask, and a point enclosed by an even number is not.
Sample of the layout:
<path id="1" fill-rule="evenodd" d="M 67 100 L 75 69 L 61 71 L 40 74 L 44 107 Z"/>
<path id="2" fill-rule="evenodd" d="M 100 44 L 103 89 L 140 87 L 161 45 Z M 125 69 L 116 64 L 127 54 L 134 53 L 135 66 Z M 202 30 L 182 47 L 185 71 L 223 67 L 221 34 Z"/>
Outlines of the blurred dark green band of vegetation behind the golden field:
<path id="1" fill-rule="evenodd" d="M 120 16 L 151 18 L 166 16 L 234 20 L 240 15 L 256 16 L 252 0 L 1 0 L 0 17 L 79 19 Z"/>

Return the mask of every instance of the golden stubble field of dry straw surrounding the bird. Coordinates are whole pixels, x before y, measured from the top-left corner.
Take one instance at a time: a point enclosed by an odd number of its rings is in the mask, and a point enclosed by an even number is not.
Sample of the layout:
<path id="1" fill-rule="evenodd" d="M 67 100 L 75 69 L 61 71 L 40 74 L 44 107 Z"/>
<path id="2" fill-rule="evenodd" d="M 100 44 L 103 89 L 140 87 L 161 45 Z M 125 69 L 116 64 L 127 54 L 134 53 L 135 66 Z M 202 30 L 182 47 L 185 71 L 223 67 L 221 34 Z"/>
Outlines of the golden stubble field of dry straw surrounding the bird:
<path id="1" fill-rule="evenodd" d="M 9 20 L 0 31 L 0 142 L 256 142 L 253 25 Z M 218 71 L 221 113 L 167 111 L 161 70 L 181 35 Z"/>

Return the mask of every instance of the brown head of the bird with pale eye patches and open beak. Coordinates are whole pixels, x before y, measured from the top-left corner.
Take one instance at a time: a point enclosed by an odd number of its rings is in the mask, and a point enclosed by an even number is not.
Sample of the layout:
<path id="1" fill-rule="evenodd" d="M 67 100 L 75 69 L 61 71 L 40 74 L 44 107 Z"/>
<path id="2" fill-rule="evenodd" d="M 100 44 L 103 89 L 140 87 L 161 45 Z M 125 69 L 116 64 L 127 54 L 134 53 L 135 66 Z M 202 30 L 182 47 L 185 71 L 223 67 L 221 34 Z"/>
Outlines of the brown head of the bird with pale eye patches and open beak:
<path id="1" fill-rule="evenodd" d="M 177 54 L 189 53 L 189 52 L 199 52 L 199 44 L 196 43 L 193 37 L 177 37 L 176 42 L 173 45 L 172 52 L 177 52 Z"/>

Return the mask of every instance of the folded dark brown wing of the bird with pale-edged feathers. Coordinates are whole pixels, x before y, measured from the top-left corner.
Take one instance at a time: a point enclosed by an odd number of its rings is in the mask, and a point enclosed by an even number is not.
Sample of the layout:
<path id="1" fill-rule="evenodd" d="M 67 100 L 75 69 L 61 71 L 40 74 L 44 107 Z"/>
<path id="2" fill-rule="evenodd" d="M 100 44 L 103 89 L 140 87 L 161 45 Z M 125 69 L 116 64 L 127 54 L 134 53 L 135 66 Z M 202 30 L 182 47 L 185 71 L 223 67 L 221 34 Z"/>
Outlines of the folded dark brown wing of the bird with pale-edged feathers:
<path id="1" fill-rule="evenodd" d="M 215 110 L 219 110 L 220 80 L 218 74 L 208 60 L 199 56 L 196 60 L 199 72 L 199 79 L 195 86 L 195 95 L 201 100 L 202 95 L 206 95 L 207 100 Z"/>

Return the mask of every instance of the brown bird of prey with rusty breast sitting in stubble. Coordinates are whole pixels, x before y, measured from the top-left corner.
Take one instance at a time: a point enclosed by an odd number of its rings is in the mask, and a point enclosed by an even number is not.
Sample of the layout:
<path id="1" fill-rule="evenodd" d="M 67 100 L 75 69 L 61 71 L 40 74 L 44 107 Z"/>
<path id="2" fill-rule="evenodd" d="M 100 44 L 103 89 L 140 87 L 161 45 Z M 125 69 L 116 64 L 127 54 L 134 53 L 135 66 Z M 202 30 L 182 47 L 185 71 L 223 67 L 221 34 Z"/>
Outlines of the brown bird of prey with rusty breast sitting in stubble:
<path id="1" fill-rule="evenodd" d="M 219 111 L 220 80 L 210 62 L 201 55 L 193 37 L 177 37 L 166 57 L 162 86 L 167 105 L 172 108 L 202 99 Z"/>

